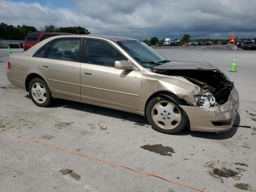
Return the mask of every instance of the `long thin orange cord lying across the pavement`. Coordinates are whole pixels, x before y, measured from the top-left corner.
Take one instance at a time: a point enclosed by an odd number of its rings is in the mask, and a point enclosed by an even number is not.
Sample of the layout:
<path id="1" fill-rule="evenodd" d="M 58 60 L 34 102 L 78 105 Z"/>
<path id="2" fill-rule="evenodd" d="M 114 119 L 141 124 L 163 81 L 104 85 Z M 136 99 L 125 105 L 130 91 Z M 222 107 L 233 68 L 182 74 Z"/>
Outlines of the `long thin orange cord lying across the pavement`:
<path id="1" fill-rule="evenodd" d="M 20 136 L 20 135 L 11 134 L 11 133 L 6 133 L 6 132 L 3 132 L 3 131 L 0 131 L 0 133 L 6 134 L 6 135 L 16 136 L 16 137 L 19 137 L 19 138 L 22 138 L 22 139 L 25 139 L 25 140 L 28 140 L 28 141 L 32 141 L 32 142 L 37 142 L 37 143 L 40 143 L 40 144 L 42 144 L 42 145 L 44 145 L 44 146 L 56 148 L 56 149 L 58 149 L 58 150 L 62 150 L 62 151 L 65 151 L 65 152 L 68 152 L 68 153 L 72 153 L 72 154 L 77 154 L 77 155 L 80 155 L 80 156 L 83 156 L 83 157 L 86 157 L 86 158 L 98 160 L 98 161 L 104 162 L 104 163 L 106 163 L 106 164 L 115 165 L 115 166 L 120 166 L 120 167 L 122 167 L 122 168 L 130 169 L 130 170 L 133 170 L 133 171 L 138 172 L 138 173 L 141 173 L 141 174 L 145 174 L 145 175 L 150 175 L 150 176 L 154 176 L 154 177 L 161 178 L 161 179 L 166 180 L 167 182 L 170 182 L 170 183 L 173 183 L 173 184 L 177 184 L 177 185 L 185 186 L 185 187 L 188 187 L 188 188 L 192 188 L 192 189 L 198 190 L 198 191 L 200 191 L 200 192 L 205 192 L 205 191 L 202 190 L 202 189 L 199 189 L 199 188 L 196 188 L 196 187 L 192 187 L 192 186 L 189 186 L 189 185 L 186 185 L 186 184 L 182 184 L 182 183 L 170 181 L 170 180 L 168 180 L 168 179 L 166 179 L 166 178 L 164 178 L 164 177 L 162 177 L 162 176 L 155 175 L 155 174 L 150 174 L 150 173 L 146 173 L 146 172 L 141 172 L 141 171 L 138 171 L 138 170 L 136 170 L 136 169 L 133 169 L 133 168 L 130 168 L 130 167 L 121 165 L 121 164 L 110 163 L 110 162 L 107 162 L 107 161 L 104 161 L 104 160 L 101 160 L 101 159 L 98 159 L 98 158 L 95 158 L 95 157 L 90 157 L 90 156 L 87 156 L 87 155 L 84 155 L 84 154 L 81 154 L 81 153 L 77 153 L 77 152 L 74 152 L 74 151 L 68 151 L 68 150 L 65 150 L 65 149 L 62 149 L 62 148 L 59 148 L 59 147 L 56 147 L 56 146 L 52 146 L 52 145 L 49 145 L 49 144 L 46 144 L 46 143 L 43 143 L 43 142 L 40 142 L 40 141 L 37 141 L 37 140 L 32 140 L 32 139 L 24 138 L 24 137 L 22 137 L 22 136 Z"/>

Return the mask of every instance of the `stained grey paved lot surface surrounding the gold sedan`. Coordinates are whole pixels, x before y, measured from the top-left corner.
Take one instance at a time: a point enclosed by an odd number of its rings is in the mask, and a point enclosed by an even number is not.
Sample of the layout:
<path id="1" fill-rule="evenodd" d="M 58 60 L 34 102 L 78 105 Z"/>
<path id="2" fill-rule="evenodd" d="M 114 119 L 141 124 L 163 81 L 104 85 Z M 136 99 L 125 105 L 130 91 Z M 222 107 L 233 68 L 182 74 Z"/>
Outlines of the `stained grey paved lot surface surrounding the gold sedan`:
<path id="1" fill-rule="evenodd" d="M 235 123 L 240 126 L 222 133 L 186 130 L 167 135 L 152 130 L 146 118 L 126 112 L 66 100 L 40 108 L 28 92 L 8 82 L 7 49 L 0 49 L 0 130 L 207 192 L 255 192 L 256 51 L 231 51 L 226 46 L 156 50 L 173 60 L 210 62 L 228 74 L 240 94 Z M 22 51 L 12 49 L 13 53 Z M 238 73 L 228 72 L 234 56 Z M 1 133 L 0 157 L 2 192 L 196 191 Z"/>

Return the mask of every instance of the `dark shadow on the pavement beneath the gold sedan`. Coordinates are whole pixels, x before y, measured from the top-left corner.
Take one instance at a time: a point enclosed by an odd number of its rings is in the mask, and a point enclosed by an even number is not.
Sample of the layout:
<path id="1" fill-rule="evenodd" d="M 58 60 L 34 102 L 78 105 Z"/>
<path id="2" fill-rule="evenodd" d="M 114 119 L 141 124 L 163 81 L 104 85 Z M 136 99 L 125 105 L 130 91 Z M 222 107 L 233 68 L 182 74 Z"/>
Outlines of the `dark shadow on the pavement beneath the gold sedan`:
<path id="1" fill-rule="evenodd" d="M 30 99 L 29 94 L 25 96 L 26 98 Z M 118 111 L 110 108 L 105 108 L 105 107 L 100 107 L 100 106 L 95 106 L 95 105 L 90 105 L 90 104 L 85 104 L 85 103 L 80 103 L 80 102 L 75 102 L 75 101 L 70 101 L 70 100 L 64 100 L 64 99 L 55 99 L 54 104 L 50 106 L 49 108 L 69 108 L 73 110 L 80 110 L 82 112 L 88 112 L 88 113 L 93 113 L 93 114 L 98 114 L 98 115 L 103 115 L 103 116 L 109 116 L 112 118 L 118 118 L 121 120 L 127 120 L 130 122 L 134 122 L 139 125 L 147 125 L 150 126 L 148 120 L 146 117 L 137 115 L 137 114 L 132 114 L 129 112 L 123 112 L 123 111 Z M 228 138 L 232 138 L 234 134 L 236 134 L 237 128 L 240 124 L 240 115 L 237 113 L 236 119 L 234 124 L 236 126 L 233 126 L 230 130 L 225 131 L 225 132 L 196 132 L 196 131 L 190 131 L 188 128 L 186 128 L 184 131 L 182 131 L 180 134 L 177 134 L 176 136 L 184 136 L 184 135 L 191 135 L 192 137 L 198 137 L 198 138 L 206 138 L 206 139 L 214 139 L 214 140 L 224 140 Z"/>

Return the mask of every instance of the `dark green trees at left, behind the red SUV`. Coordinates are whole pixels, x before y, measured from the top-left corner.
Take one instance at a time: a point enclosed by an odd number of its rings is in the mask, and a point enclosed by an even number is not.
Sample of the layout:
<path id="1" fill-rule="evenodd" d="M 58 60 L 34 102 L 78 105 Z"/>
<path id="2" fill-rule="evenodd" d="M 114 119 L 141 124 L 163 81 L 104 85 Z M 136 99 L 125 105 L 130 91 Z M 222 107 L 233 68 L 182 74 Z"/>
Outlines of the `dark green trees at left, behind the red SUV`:
<path id="1" fill-rule="evenodd" d="M 44 32 L 62 32 L 74 34 L 90 34 L 89 30 L 83 27 L 56 27 L 53 25 L 46 25 L 43 28 Z M 8 25 L 6 23 L 0 24 L 0 39 L 3 40 L 25 40 L 29 33 L 38 32 L 34 26 L 26 25 Z"/>

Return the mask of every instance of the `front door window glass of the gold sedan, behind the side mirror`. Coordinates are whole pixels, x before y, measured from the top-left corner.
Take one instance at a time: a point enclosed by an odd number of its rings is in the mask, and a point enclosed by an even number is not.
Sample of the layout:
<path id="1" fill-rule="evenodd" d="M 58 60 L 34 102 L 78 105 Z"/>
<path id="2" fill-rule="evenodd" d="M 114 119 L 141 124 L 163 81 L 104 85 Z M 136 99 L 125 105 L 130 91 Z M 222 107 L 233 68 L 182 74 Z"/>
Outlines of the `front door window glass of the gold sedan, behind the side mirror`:
<path id="1" fill-rule="evenodd" d="M 86 39 L 85 62 L 101 66 L 115 67 L 115 61 L 127 60 L 114 47 L 99 40 Z"/>

